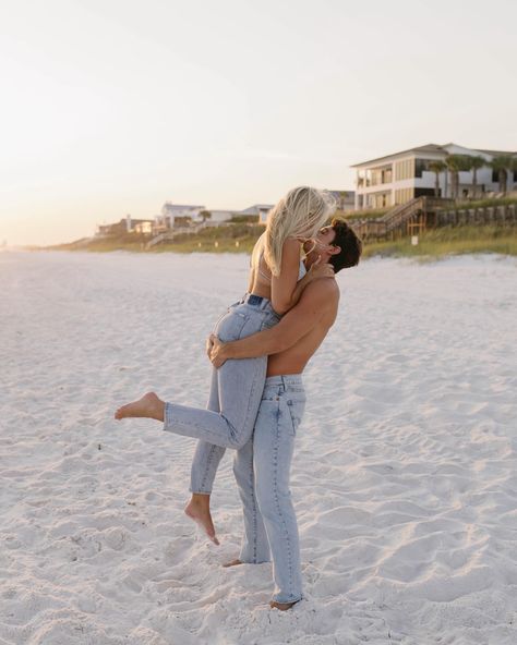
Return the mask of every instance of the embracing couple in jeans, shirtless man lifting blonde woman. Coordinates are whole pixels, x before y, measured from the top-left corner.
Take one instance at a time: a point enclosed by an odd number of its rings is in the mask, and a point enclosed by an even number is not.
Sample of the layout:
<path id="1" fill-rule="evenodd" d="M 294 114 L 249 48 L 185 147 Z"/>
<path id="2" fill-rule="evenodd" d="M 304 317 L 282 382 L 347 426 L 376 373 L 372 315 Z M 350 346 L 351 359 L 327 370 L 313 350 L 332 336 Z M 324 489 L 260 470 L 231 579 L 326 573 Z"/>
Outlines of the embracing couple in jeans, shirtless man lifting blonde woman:
<path id="1" fill-rule="evenodd" d="M 302 372 L 337 315 L 334 279 L 359 263 L 361 241 L 332 220 L 328 193 L 300 186 L 272 209 L 251 258 L 248 292 L 207 340 L 213 363 L 207 410 L 161 401 L 154 392 L 116 418 L 147 417 L 199 439 L 185 513 L 218 544 L 211 494 L 227 448 L 244 514 L 239 557 L 226 567 L 273 560 L 269 605 L 286 610 L 303 597 L 297 519 L 289 489 L 294 437 L 305 406 Z"/>

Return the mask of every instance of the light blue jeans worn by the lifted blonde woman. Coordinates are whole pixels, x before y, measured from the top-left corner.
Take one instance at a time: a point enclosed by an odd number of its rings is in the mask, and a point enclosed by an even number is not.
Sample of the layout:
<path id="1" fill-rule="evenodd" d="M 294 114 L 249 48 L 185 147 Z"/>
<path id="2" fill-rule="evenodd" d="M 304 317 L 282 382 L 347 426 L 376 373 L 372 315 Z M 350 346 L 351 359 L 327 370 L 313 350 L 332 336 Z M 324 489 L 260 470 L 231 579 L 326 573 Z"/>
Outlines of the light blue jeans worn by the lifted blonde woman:
<path id="1" fill-rule="evenodd" d="M 279 319 L 267 299 L 248 294 L 219 318 L 214 333 L 228 342 L 273 327 Z M 203 454 L 196 477 L 200 486 L 204 478 L 215 477 L 224 448 L 237 450 L 249 441 L 266 370 L 267 356 L 227 361 L 219 369 L 213 369 L 208 410 L 165 404 L 164 430 L 208 442 L 201 447 Z M 218 461 L 213 459 L 215 449 L 211 445 L 220 448 Z"/>

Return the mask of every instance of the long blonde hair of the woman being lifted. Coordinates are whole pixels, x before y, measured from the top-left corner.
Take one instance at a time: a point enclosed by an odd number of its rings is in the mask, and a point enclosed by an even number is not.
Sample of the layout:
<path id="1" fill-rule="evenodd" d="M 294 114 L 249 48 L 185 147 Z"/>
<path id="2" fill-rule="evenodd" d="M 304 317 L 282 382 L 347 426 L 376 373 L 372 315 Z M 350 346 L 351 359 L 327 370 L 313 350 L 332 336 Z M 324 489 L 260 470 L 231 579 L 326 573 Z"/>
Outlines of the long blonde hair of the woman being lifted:
<path id="1" fill-rule="evenodd" d="M 314 238 L 335 210 L 336 200 L 330 193 L 310 186 L 292 188 L 270 209 L 264 259 L 274 276 L 280 275 L 281 250 L 287 238 Z"/>

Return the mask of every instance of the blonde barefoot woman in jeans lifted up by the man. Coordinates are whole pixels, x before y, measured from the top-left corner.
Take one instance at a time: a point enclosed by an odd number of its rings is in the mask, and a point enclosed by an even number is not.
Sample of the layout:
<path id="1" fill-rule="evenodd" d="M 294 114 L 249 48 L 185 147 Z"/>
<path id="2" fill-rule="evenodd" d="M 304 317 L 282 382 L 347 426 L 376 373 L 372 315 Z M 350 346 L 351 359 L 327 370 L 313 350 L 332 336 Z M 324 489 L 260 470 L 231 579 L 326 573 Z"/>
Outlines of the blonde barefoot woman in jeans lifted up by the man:
<path id="1" fill-rule="evenodd" d="M 322 191 L 299 186 L 272 209 L 264 234 L 252 254 L 248 293 L 218 320 L 214 333 L 238 340 L 276 325 L 315 278 L 333 277 L 329 265 L 305 272 L 302 245 L 315 239 L 332 217 L 335 204 Z M 123 405 L 116 418 L 148 417 L 164 429 L 200 439 L 191 471 L 192 499 L 187 514 L 218 544 L 209 514 L 209 495 L 225 448 L 238 450 L 250 439 L 264 390 L 267 356 L 227 361 L 213 369 L 207 410 L 165 403 L 154 392 Z"/>

